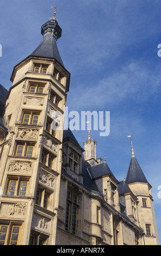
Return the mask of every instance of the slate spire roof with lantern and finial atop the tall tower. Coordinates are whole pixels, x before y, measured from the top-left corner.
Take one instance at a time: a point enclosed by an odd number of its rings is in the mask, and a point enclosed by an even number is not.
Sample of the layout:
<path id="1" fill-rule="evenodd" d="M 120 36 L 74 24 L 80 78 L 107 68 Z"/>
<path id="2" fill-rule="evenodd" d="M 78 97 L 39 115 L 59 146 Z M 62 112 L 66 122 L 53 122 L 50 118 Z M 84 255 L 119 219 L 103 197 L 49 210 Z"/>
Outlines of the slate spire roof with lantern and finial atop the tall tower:
<path id="1" fill-rule="evenodd" d="M 58 25 L 54 12 L 53 17 L 41 26 L 41 34 L 43 35 L 43 38 L 40 45 L 30 55 L 54 58 L 64 66 L 57 47 L 57 40 L 61 37 L 61 31 L 62 29 Z"/>

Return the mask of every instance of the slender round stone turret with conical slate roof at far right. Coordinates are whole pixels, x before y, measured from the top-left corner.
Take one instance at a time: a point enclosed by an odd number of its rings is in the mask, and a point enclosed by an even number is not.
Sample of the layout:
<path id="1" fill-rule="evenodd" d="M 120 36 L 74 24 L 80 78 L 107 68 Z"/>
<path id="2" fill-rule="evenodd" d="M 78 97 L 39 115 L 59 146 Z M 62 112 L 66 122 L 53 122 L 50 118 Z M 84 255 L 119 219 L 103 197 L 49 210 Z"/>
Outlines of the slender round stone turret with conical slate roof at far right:
<path id="1" fill-rule="evenodd" d="M 132 145 L 132 140 L 131 140 Z M 137 209 L 139 225 L 145 233 L 145 245 L 159 245 L 156 216 L 151 193 L 152 186 L 148 183 L 143 170 L 134 155 L 132 145 L 132 157 L 126 177 L 126 184 L 137 197 Z"/>

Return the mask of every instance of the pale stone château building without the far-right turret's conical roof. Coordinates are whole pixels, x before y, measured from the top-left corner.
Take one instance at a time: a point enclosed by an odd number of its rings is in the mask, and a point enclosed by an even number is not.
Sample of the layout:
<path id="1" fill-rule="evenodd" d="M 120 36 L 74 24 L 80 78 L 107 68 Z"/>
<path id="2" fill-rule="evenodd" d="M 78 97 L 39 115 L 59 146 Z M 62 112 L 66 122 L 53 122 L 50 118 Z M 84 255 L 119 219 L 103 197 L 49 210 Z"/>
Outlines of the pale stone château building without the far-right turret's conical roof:
<path id="1" fill-rule="evenodd" d="M 119 182 L 90 134 L 82 148 L 63 131 L 70 73 L 55 16 L 41 32 L 1 112 L 0 244 L 158 245 L 148 182 Z"/>

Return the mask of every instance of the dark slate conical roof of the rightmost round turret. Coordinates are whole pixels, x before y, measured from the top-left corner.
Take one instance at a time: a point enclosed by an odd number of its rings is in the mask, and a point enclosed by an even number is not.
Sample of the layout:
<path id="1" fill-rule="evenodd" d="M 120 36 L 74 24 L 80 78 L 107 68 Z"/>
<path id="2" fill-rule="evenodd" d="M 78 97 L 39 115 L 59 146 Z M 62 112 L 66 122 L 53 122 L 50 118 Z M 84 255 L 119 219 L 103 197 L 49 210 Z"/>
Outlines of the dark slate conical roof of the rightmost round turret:
<path id="1" fill-rule="evenodd" d="M 128 173 L 126 177 L 126 183 L 133 183 L 133 182 L 145 182 L 148 183 L 147 179 L 143 171 L 141 170 L 139 163 L 135 156 L 132 156 L 131 162 L 129 164 Z"/>

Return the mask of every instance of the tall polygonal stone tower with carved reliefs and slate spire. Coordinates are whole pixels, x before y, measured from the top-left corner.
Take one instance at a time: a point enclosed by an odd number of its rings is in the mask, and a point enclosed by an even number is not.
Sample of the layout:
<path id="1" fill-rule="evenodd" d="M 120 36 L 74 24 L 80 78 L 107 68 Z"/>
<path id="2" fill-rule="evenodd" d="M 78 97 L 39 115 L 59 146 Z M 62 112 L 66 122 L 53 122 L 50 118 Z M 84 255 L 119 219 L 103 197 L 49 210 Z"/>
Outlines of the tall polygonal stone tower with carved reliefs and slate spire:
<path id="1" fill-rule="evenodd" d="M 62 140 L 70 73 L 61 60 L 53 17 L 40 45 L 11 75 L 1 144 L 1 245 L 54 245 Z"/>

